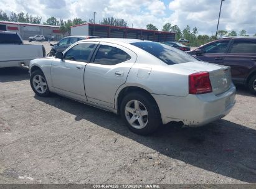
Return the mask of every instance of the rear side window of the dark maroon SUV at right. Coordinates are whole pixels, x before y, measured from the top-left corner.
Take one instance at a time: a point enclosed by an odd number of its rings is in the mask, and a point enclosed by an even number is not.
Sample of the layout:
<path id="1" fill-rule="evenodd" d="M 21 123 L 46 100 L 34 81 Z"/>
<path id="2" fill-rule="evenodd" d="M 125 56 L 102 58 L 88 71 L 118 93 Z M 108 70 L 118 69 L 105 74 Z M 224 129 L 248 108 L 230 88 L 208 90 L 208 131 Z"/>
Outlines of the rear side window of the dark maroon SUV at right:
<path id="1" fill-rule="evenodd" d="M 235 40 L 230 53 L 256 53 L 255 40 Z"/>

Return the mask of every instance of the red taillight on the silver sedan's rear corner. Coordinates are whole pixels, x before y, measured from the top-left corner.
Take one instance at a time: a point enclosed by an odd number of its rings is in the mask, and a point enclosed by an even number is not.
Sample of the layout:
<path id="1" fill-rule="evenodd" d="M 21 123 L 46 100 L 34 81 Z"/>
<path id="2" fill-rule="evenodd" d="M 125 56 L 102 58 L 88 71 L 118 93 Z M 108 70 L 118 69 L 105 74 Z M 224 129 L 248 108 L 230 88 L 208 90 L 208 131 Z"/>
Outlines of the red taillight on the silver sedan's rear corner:
<path id="1" fill-rule="evenodd" d="M 211 93 L 212 85 L 209 72 L 198 72 L 189 75 L 189 94 Z"/>

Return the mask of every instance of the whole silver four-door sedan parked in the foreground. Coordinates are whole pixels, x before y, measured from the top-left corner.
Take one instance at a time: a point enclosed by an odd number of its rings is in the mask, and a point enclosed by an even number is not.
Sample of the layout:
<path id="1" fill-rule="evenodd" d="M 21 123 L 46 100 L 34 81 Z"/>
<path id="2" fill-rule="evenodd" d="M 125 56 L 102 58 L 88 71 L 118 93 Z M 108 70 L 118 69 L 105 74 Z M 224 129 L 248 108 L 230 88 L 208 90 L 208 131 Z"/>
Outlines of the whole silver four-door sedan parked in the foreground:
<path id="1" fill-rule="evenodd" d="M 201 126 L 235 104 L 230 68 L 173 47 L 136 39 L 81 40 L 55 58 L 31 61 L 31 87 L 121 114 L 131 131 L 171 121 Z"/>

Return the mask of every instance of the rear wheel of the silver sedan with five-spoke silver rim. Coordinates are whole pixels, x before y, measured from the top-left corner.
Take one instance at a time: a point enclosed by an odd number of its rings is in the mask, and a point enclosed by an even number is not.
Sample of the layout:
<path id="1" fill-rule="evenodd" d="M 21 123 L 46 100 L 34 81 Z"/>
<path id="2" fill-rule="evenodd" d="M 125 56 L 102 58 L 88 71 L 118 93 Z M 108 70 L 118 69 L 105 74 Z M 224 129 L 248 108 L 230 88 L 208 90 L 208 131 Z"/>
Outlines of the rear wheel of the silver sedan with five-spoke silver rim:
<path id="1" fill-rule="evenodd" d="M 121 101 L 120 114 L 126 126 L 136 134 L 151 134 L 161 124 L 158 105 L 153 97 L 140 91 L 126 94 Z"/>

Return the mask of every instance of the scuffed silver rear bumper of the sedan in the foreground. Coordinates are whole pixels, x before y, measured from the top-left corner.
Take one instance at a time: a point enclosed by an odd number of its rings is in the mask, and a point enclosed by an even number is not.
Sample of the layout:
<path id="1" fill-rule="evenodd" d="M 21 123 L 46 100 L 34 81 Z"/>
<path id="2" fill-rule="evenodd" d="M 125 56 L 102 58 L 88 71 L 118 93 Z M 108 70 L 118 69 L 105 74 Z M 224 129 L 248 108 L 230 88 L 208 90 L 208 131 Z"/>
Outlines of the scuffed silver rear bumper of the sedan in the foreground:
<path id="1" fill-rule="evenodd" d="M 152 94 L 159 110 L 163 124 L 181 121 L 187 126 L 202 126 L 223 118 L 234 107 L 235 86 L 222 94 L 188 94 L 186 97 Z"/>

